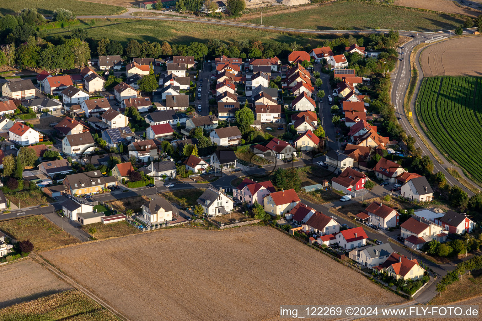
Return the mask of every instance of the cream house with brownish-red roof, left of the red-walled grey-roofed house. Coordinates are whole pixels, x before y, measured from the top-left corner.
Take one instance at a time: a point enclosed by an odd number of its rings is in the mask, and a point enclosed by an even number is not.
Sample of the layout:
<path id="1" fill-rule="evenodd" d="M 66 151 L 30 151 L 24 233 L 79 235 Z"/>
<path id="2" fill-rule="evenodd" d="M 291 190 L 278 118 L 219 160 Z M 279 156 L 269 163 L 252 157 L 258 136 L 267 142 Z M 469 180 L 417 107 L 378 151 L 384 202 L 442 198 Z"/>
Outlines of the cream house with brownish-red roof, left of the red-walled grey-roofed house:
<path id="1" fill-rule="evenodd" d="M 406 246 L 413 245 L 415 249 L 418 249 L 434 239 L 440 243 L 445 242 L 448 231 L 431 221 L 413 216 L 400 224 L 400 236 L 405 238 Z"/>

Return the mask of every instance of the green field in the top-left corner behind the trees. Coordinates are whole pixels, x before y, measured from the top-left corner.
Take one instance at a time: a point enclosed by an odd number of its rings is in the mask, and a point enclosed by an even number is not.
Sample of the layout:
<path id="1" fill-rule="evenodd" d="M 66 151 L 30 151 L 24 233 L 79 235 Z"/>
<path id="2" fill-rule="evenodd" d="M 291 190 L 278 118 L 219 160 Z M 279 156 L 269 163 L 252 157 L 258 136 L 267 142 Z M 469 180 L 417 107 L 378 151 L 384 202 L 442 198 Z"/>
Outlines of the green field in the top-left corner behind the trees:
<path id="1" fill-rule="evenodd" d="M 24 8 L 37 8 L 44 15 L 52 15 L 57 8 L 70 10 L 75 15 L 119 14 L 126 10 L 118 6 L 78 0 L 1 0 L 0 16 L 20 12 Z"/>

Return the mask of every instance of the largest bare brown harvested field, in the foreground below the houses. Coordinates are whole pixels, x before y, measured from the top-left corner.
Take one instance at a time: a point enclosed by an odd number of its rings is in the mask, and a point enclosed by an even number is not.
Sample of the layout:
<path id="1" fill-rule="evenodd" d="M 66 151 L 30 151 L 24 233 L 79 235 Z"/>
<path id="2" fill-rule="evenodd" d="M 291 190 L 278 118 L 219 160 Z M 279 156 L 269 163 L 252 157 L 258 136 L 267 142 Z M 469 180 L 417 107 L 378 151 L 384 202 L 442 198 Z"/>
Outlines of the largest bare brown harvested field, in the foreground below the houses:
<path id="1" fill-rule="evenodd" d="M 152 320 L 153 315 L 157 320 L 267 320 L 278 316 L 286 302 L 403 301 L 269 227 L 168 229 L 42 256 L 131 320 Z"/>

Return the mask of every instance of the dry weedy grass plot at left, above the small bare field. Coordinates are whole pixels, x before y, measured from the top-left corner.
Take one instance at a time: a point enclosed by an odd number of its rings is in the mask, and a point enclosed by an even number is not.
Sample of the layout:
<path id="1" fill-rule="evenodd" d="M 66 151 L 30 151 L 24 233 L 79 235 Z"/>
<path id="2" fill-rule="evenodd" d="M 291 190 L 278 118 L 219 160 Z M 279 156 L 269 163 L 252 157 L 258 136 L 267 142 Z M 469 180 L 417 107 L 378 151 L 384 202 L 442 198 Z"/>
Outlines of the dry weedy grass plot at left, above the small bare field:
<path id="1" fill-rule="evenodd" d="M 17 241 L 30 240 L 34 245 L 34 251 L 38 252 L 79 242 L 41 215 L 0 221 L 0 230 L 11 235 Z"/>

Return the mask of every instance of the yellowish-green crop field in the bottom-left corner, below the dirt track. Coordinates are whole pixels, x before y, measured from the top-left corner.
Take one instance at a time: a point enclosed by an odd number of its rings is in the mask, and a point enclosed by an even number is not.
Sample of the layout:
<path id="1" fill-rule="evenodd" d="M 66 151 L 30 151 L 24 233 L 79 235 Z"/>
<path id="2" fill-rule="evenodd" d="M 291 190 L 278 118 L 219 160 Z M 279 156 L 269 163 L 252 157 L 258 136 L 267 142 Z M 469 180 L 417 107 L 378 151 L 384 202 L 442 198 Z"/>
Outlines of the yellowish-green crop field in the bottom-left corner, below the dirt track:
<path id="1" fill-rule="evenodd" d="M 0 321 L 119 321 L 80 291 L 70 290 L 0 309 Z"/>

